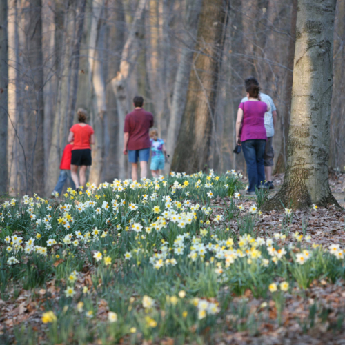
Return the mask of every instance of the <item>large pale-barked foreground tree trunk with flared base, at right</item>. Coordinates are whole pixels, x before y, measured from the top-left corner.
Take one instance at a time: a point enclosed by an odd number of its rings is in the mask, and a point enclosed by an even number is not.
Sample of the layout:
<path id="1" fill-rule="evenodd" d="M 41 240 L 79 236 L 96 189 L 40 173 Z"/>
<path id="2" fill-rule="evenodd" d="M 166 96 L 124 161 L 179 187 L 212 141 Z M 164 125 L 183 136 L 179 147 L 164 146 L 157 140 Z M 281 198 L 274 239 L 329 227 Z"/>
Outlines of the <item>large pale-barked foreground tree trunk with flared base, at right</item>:
<path id="1" fill-rule="evenodd" d="M 328 184 L 336 0 L 299 0 L 284 184 L 264 210 L 337 204 Z"/>

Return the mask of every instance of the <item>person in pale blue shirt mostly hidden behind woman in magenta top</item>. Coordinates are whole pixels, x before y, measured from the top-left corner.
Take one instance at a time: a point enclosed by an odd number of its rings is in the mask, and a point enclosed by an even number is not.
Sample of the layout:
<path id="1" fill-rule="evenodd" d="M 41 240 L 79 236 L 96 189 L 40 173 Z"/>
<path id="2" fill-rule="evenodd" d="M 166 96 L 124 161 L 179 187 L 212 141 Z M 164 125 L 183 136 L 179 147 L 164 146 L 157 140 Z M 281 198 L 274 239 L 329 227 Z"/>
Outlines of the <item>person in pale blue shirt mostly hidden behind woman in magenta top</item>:
<path id="1" fill-rule="evenodd" d="M 259 81 L 255 77 L 248 77 L 244 81 L 244 86 L 247 88 L 251 84 L 259 86 Z M 265 93 L 260 92 L 259 95 L 260 101 L 265 102 L 268 106 L 270 106 L 270 110 L 265 112 L 264 123 L 266 128 L 266 148 L 264 154 L 264 168 L 265 168 L 265 176 L 266 176 L 266 186 L 268 189 L 274 189 L 275 186 L 273 185 L 272 181 L 272 169 L 273 169 L 273 158 L 275 157 L 275 152 L 273 150 L 273 135 L 275 135 L 275 124 L 277 124 L 277 108 L 275 108 L 275 103 L 270 96 L 266 95 Z M 244 97 L 241 103 L 248 101 L 247 97 Z"/>

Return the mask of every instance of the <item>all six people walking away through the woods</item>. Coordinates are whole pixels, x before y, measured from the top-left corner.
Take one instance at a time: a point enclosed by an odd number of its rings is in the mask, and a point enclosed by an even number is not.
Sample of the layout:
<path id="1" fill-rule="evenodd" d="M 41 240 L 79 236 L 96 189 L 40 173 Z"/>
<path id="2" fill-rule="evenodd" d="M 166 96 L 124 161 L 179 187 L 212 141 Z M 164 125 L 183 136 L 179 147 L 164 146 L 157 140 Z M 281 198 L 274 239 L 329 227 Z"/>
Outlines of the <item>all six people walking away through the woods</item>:
<path id="1" fill-rule="evenodd" d="M 273 189 L 273 135 L 277 111 L 270 96 L 260 92 L 254 77 L 245 80 L 247 96 L 239 104 L 236 121 L 236 142 L 242 147 L 246 159 L 249 186 L 247 194 L 255 194 L 255 188 Z M 144 110 L 144 99 L 133 99 L 134 110 L 126 115 L 124 124 L 124 155 L 132 165 L 132 180 L 148 175 L 148 161 L 152 177 L 158 177 L 167 159 L 164 140 L 153 127 L 153 116 Z M 52 195 L 60 195 L 67 179 L 78 190 L 86 184 L 86 169 L 92 164 L 91 144 L 95 143 L 94 130 L 86 124 L 86 110 L 77 112 L 78 124 L 70 128 L 68 144 L 63 150 L 60 176 Z M 79 175 L 78 175 L 79 169 Z"/>

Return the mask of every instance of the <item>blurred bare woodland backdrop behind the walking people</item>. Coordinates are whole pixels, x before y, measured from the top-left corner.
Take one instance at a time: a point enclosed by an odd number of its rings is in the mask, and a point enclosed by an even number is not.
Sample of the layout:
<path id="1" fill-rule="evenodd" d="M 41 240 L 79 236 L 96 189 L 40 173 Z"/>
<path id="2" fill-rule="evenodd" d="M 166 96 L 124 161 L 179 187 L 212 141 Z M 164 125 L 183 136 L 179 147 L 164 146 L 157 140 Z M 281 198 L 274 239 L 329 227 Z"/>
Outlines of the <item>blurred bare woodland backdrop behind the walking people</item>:
<path id="1" fill-rule="evenodd" d="M 275 168 L 284 172 L 296 0 L 0 0 L 0 6 L 1 193 L 52 192 L 79 107 L 95 129 L 90 181 L 128 177 L 123 124 L 135 95 L 144 96 L 172 158 L 181 117 L 193 112 L 188 97 L 205 92 L 188 83 L 195 57 L 210 45 L 217 68 L 198 66 L 216 73 L 207 167 L 244 170 L 243 155 L 233 154 L 235 117 L 244 79 L 254 75 L 277 107 Z M 215 6 L 222 17 L 210 23 Z M 329 162 L 336 170 L 345 165 L 344 18 L 345 1 L 338 0 Z M 210 26 L 221 39 L 203 40 Z"/>

